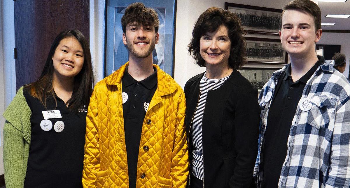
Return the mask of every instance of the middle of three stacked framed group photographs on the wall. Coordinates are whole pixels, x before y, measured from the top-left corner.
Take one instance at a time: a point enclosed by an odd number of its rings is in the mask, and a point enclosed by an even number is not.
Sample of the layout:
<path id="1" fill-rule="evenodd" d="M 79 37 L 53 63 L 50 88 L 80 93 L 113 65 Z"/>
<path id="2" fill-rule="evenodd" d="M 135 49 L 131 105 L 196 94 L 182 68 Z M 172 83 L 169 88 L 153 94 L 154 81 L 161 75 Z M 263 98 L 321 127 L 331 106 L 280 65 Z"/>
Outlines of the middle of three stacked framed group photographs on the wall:
<path id="1" fill-rule="evenodd" d="M 287 64 L 288 54 L 280 39 L 245 37 L 247 41 L 247 63 Z"/>

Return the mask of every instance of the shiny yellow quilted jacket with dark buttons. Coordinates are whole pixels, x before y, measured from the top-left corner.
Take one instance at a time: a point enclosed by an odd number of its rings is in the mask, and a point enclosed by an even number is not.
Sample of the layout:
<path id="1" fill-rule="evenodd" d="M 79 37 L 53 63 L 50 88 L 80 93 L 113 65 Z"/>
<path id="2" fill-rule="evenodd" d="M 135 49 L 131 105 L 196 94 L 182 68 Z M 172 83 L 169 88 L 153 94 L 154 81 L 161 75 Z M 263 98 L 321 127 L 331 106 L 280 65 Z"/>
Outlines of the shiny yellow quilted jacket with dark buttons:
<path id="1" fill-rule="evenodd" d="M 86 117 L 83 187 L 129 187 L 121 99 L 127 65 L 94 87 Z M 185 95 L 173 78 L 154 67 L 158 87 L 142 125 L 136 187 L 186 187 Z"/>

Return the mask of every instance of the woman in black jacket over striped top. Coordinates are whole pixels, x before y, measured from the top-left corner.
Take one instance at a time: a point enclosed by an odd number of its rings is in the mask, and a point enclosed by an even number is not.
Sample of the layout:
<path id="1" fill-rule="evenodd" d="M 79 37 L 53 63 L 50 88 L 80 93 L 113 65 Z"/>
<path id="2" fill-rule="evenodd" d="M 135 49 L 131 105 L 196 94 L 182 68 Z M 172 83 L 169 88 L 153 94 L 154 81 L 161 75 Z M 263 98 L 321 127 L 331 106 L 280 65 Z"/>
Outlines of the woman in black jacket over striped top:
<path id="1" fill-rule="evenodd" d="M 243 34 L 237 15 L 221 8 L 195 23 L 188 52 L 206 71 L 184 88 L 191 188 L 252 185 L 260 108 L 257 88 L 237 71 L 245 62 Z"/>

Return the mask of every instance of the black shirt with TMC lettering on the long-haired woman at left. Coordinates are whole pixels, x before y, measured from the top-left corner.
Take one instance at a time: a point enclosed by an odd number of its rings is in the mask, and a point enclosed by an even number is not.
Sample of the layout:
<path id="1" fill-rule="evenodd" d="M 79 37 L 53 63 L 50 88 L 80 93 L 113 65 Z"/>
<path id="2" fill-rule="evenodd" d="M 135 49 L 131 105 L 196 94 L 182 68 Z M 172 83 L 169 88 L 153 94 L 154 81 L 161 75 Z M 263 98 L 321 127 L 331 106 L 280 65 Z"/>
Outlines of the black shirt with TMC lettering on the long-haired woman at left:
<path id="1" fill-rule="evenodd" d="M 70 112 L 58 97 L 57 107 L 54 98 L 49 97 L 45 108 L 26 88 L 23 95 L 31 110 L 31 140 L 24 187 L 82 187 L 87 104 L 77 112 Z M 40 123 L 44 120 L 42 111 L 47 110 L 59 110 L 62 118 L 47 119 L 52 128 L 45 131 Z M 57 121 L 64 123 L 62 132 L 54 129 Z"/>

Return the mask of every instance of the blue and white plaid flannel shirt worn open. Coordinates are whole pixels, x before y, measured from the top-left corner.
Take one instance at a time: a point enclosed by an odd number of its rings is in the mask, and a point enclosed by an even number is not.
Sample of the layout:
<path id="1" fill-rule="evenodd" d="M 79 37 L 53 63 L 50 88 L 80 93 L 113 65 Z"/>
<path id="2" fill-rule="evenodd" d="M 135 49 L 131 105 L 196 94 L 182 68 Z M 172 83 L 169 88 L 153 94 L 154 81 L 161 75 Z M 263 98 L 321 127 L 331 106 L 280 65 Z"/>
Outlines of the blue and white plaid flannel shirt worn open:
<path id="1" fill-rule="evenodd" d="M 298 104 L 290 127 L 287 156 L 279 179 L 280 188 L 344 187 L 350 184 L 350 84 L 325 61 L 306 83 L 302 97 L 312 102 L 308 111 Z M 259 96 L 261 107 L 259 151 L 254 168 L 258 187 L 264 181 L 261 147 L 264 146 L 268 109 L 278 79 L 287 66 L 274 72 Z M 268 94 L 270 95 L 270 94 Z M 271 96 L 271 98 L 272 98 Z"/>

